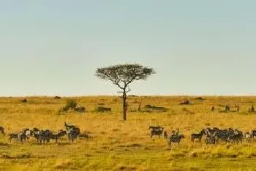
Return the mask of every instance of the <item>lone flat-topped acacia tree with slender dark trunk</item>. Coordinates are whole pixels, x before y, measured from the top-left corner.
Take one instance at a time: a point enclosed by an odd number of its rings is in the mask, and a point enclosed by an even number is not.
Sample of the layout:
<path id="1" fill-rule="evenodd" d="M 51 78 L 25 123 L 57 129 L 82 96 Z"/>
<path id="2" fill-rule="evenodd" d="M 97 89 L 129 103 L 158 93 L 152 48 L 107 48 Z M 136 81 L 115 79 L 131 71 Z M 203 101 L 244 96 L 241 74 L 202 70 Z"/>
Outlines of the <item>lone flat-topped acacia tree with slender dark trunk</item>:
<path id="1" fill-rule="evenodd" d="M 112 81 L 121 91 L 123 98 L 123 119 L 127 120 L 127 92 L 130 92 L 129 84 L 135 80 L 146 80 L 148 76 L 156 73 L 153 68 L 140 64 L 110 65 L 105 68 L 97 68 L 96 76 L 100 79 Z"/>

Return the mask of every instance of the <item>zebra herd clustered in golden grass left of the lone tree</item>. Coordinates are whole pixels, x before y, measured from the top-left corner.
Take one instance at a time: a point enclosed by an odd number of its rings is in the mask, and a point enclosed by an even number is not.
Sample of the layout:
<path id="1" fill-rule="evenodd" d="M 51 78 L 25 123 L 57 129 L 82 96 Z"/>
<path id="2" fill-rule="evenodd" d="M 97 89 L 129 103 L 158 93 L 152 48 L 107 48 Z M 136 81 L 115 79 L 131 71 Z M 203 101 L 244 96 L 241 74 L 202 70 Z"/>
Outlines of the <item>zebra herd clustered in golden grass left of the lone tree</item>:
<path id="1" fill-rule="evenodd" d="M 69 140 L 72 142 L 78 138 L 80 135 L 80 128 L 75 125 L 69 125 L 66 122 L 64 122 L 64 126 L 66 127 L 66 130 L 58 130 L 57 133 L 53 133 L 51 130 L 39 130 L 37 127 L 34 127 L 33 129 L 24 128 L 18 133 L 10 133 L 8 134 L 10 142 L 12 139 L 16 139 L 17 142 L 24 143 L 26 140 L 29 140 L 30 137 L 34 137 L 37 140 L 38 144 L 42 143 L 50 143 L 50 140 L 56 140 L 56 143 L 61 137 L 64 137 L 64 135 L 67 135 Z M 4 133 L 4 127 L 0 126 L 0 132 L 5 135 Z"/>

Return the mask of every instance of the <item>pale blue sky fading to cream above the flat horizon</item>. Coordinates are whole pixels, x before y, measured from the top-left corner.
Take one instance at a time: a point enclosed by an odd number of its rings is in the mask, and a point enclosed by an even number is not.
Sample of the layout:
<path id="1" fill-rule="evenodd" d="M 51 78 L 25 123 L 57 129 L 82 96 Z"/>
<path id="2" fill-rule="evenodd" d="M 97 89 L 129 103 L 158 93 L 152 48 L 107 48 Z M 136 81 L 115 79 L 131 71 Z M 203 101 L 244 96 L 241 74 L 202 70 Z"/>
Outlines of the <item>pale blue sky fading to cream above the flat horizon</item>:
<path id="1" fill-rule="evenodd" d="M 118 95 L 97 68 L 156 74 L 130 95 L 256 95 L 256 1 L 0 1 L 0 96 Z"/>

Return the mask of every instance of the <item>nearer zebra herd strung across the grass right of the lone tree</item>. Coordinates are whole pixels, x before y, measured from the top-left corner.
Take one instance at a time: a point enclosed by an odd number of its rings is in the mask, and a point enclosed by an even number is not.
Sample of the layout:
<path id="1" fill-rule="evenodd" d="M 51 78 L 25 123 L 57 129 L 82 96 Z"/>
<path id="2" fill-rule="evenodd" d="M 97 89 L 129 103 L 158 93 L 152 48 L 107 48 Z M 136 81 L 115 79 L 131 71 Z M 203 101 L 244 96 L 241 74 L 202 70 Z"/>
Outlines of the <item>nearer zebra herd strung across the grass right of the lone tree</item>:
<path id="1" fill-rule="evenodd" d="M 164 137 L 167 139 L 167 143 L 170 146 L 171 143 L 180 143 L 182 138 L 185 138 L 184 135 L 180 135 L 177 131 L 172 131 L 171 135 L 167 135 L 167 131 L 164 131 L 164 127 L 159 126 L 150 126 L 148 128 L 151 129 L 151 138 L 154 135 L 161 136 L 164 134 Z M 219 140 L 225 141 L 225 143 L 242 143 L 243 139 L 246 139 L 247 142 L 252 142 L 253 138 L 256 136 L 256 130 L 252 130 L 252 132 L 243 132 L 241 130 L 228 128 L 224 130 L 220 130 L 217 127 L 207 127 L 206 129 L 201 130 L 199 133 L 192 133 L 190 138 L 192 143 L 197 139 L 199 142 L 202 142 L 202 138 L 204 138 L 206 144 L 217 144 Z"/>

